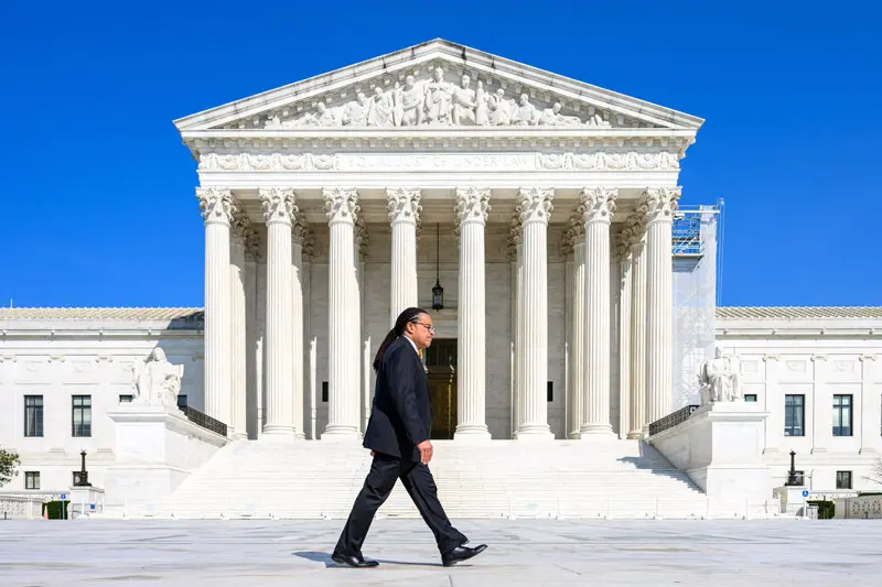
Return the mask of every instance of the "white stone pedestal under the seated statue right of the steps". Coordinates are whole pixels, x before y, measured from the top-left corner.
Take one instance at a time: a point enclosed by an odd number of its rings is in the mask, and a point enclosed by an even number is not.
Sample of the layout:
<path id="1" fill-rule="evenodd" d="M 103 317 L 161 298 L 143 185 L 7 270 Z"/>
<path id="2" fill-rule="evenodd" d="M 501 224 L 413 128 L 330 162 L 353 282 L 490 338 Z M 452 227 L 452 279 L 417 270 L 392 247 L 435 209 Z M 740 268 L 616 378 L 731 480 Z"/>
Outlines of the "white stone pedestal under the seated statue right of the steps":
<path id="1" fill-rule="evenodd" d="M 762 458 L 766 417 L 768 412 L 743 400 L 712 403 L 648 442 L 709 498 L 760 506 L 772 498 L 772 475 Z"/>

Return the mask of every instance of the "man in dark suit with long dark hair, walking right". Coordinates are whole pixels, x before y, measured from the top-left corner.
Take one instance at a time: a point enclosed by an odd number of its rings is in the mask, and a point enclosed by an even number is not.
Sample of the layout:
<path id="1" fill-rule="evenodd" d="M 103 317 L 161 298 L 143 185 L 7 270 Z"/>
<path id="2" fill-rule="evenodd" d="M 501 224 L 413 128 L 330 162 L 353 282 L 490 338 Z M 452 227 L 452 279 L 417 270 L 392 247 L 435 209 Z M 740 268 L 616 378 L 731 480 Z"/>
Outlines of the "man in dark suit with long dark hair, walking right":
<path id="1" fill-rule="evenodd" d="M 438 488 L 428 467 L 432 458 L 429 442 L 432 409 L 419 352 L 432 344 L 432 336 L 431 316 L 420 308 L 407 308 L 377 350 L 374 359 L 377 384 L 364 441 L 374 461 L 334 548 L 332 558 L 337 563 L 377 566 L 376 561 L 362 556 L 362 544 L 374 515 L 398 479 L 434 534 L 444 566 L 486 548 L 485 544 L 465 546 L 469 540 L 451 525 L 438 501 Z"/>

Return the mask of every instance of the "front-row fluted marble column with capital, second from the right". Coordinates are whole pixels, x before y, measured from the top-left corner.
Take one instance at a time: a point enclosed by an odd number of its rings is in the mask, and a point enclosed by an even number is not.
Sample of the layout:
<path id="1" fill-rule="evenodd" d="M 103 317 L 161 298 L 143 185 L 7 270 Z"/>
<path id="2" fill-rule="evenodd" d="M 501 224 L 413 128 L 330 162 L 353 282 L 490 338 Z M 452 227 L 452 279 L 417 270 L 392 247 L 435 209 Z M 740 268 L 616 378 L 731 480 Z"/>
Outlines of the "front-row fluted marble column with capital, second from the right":
<path id="1" fill-rule="evenodd" d="M 610 424 L 610 222 L 617 192 L 584 189 L 585 410 L 582 438 L 612 436 Z"/>

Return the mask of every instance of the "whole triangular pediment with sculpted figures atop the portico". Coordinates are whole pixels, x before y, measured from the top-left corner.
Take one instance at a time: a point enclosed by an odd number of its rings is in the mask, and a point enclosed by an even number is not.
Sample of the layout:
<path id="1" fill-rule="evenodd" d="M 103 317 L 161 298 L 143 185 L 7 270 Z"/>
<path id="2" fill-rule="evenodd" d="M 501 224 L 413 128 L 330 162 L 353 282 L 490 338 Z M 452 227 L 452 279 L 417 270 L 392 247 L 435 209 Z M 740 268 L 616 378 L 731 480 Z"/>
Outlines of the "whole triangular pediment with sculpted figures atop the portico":
<path id="1" fill-rule="evenodd" d="M 703 120 L 443 40 L 175 121 L 206 130 L 686 129 Z"/>

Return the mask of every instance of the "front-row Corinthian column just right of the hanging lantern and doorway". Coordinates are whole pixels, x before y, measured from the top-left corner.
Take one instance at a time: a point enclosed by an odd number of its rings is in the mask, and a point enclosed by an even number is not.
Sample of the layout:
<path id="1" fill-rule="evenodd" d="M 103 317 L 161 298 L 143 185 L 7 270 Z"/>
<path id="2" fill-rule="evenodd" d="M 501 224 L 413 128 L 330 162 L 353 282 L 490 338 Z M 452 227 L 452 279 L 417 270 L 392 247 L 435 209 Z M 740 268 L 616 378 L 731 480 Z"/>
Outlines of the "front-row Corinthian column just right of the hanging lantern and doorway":
<path id="1" fill-rule="evenodd" d="M 484 226 L 490 211 L 488 188 L 456 189 L 460 229 L 460 316 L 456 355 L 456 433 L 454 439 L 490 439 L 485 421 L 486 317 Z"/>

